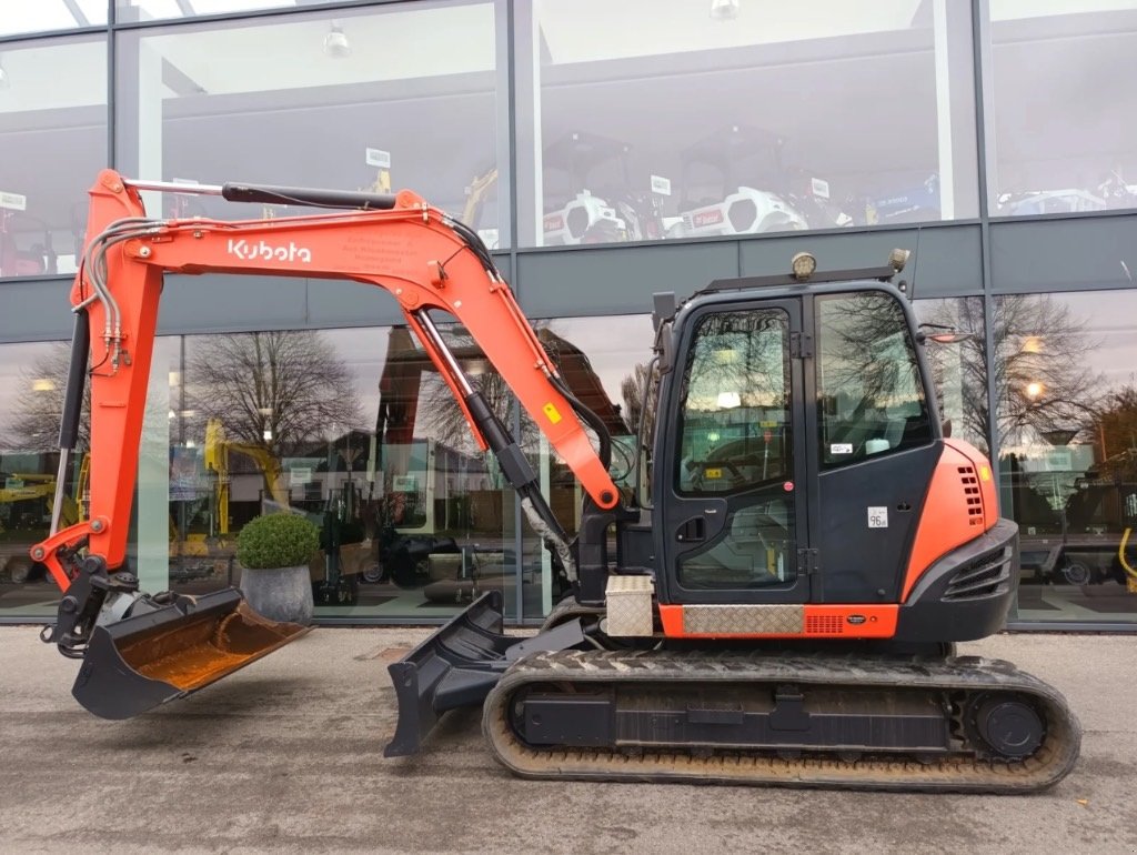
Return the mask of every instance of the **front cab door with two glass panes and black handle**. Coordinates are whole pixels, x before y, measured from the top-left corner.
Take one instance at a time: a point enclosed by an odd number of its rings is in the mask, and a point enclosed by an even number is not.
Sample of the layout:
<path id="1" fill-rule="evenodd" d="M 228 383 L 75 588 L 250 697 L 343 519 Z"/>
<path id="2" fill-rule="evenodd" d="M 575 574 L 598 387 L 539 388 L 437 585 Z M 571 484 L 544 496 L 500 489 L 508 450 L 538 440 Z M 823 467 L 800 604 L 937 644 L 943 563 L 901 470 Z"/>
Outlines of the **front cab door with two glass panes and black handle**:
<path id="1" fill-rule="evenodd" d="M 656 462 L 661 599 L 807 601 L 800 300 L 712 304 L 683 326 Z"/>

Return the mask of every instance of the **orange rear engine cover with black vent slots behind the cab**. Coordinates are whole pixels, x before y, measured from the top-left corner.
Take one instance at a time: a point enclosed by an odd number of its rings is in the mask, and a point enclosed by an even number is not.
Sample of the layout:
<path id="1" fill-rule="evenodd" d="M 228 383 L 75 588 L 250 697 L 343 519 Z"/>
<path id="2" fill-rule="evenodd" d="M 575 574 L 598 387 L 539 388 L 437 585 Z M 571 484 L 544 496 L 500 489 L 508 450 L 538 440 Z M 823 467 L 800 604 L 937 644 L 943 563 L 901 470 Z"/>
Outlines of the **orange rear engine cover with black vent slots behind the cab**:
<path id="1" fill-rule="evenodd" d="M 987 458 L 966 442 L 944 440 L 944 454 L 932 473 L 912 543 L 901 601 L 907 601 L 920 576 L 935 562 L 997 522 L 995 481 Z"/>

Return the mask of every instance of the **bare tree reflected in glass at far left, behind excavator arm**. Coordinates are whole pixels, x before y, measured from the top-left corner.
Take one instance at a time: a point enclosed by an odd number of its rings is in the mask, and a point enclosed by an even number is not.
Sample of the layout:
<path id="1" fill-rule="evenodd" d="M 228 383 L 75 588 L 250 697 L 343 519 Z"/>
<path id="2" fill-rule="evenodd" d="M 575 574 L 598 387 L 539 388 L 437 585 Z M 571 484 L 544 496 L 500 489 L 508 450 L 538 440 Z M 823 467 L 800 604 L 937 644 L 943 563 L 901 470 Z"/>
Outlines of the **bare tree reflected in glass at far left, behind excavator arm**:
<path id="1" fill-rule="evenodd" d="M 53 342 L 50 349 L 20 372 L 19 392 L 13 407 L 11 437 L 5 438 L 6 447 L 26 451 L 56 450 L 69 364 L 70 345 Z M 83 417 L 80 421 L 78 448 L 88 448 L 91 443 L 90 413 L 91 385 L 88 383 Z"/>

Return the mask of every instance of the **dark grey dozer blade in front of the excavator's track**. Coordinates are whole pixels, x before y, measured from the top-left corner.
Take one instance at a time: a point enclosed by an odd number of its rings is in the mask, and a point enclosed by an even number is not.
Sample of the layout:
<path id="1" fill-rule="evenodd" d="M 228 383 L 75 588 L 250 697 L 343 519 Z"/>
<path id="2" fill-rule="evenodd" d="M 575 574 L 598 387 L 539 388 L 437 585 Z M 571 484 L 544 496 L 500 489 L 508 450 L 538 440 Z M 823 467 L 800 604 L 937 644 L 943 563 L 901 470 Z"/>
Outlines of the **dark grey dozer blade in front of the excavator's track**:
<path id="1" fill-rule="evenodd" d="M 503 632 L 501 592 L 489 591 L 398 662 L 388 666 L 399 703 L 395 737 L 384 757 L 404 757 L 418 746 L 439 716 L 459 706 L 478 706 L 514 662 L 538 650 L 565 650 L 583 644 L 580 621 L 532 638 Z"/>

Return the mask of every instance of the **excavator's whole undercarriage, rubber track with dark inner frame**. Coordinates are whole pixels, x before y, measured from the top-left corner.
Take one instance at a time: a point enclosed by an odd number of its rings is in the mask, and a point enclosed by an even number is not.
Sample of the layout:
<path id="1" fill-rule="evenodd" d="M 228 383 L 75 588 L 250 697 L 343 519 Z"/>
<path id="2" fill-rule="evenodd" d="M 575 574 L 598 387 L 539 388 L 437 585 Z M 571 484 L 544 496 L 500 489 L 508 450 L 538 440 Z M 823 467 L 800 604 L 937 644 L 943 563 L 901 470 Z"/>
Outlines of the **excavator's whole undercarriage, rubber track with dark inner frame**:
<path id="1" fill-rule="evenodd" d="M 482 728 L 526 778 L 1029 792 L 1081 739 L 1006 662 L 562 650 L 515 663 Z"/>

